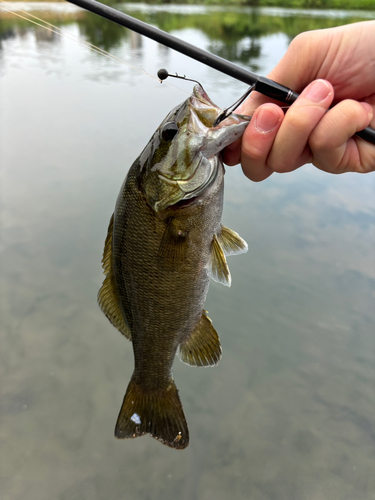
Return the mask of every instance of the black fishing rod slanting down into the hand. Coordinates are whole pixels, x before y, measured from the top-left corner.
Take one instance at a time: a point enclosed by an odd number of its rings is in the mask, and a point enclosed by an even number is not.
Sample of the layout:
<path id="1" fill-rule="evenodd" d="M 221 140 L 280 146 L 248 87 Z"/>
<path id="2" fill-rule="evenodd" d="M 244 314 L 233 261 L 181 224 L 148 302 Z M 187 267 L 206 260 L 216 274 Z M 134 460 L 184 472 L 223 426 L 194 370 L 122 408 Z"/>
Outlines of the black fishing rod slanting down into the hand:
<path id="1" fill-rule="evenodd" d="M 247 69 L 241 68 L 222 57 L 216 56 L 215 54 L 211 54 L 211 52 L 207 52 L 206 50 L 200 49 L 191 43 L 184 42 L 179 38 L 166 33 L 159 28 L 154 28 L 149 24 L 140 21 L 139 19 L 135 19 L 128 14 L 124 14 L 113 7 L 109 7 L 108 5 L 104 5 L 96 0 L 67 0 L 68 2 L 81 7 L 82 9 L 88 10 L 97 14 L 109 21 L 113 21 L 125 28 L 129 28 L 140 35 L 144 35 L 147 38 L 151 38 L 155 42 L 161 43 L 166 47 L 169 47 L 181 54 L 184 54 L 196 61 L 199 61 L 206 66 L 210 66 L 221 73 L 225 73 L 240 82 L 246 83 L 250 85 L 251 90 L 256 90 L 260 94 L 263 94 L 267 97 L 271 97 L 280 102 L 284 102 L 286 104 L 292 104 L 299 94 L 294 92 L 292 89 L 281 85 L 280 83 L 274 82 L 270 78 L 266 78 L 264 76 L 259 76 Z M 375 144 L 375 129 L 371 127 L 367 127 L 360 132 L 357 132 L 356 135 L 364 139 L 365 141 L 371 142 Z"/>

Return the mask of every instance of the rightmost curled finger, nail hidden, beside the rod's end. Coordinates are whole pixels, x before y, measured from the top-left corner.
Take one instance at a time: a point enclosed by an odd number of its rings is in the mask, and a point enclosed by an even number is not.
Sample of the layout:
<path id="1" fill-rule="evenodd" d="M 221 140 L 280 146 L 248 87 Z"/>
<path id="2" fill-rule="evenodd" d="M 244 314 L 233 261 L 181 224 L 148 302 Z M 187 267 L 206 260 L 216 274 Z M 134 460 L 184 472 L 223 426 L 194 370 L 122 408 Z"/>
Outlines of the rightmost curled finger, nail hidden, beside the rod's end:
<path id="1" fill-rule="evenodd" d="M 330 173 L 374 171 L 375 146 L 354 136 L 372 118 L 368 103 L 347 99 L 336 104 L 309 138 L 314 165 Z"/>

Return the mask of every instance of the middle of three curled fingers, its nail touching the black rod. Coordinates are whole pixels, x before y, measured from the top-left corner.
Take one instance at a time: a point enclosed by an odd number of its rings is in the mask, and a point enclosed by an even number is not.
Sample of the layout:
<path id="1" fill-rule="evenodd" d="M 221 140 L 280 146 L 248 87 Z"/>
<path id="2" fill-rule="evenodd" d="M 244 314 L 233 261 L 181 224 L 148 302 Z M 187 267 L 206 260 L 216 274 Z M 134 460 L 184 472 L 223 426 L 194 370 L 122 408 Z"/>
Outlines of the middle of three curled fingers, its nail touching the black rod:
<path id="1" fill-rule="evenodd" d="M 288 109 L 268 157 L 275 172 L 291 172 L 311 160 L 308 139 L 333 100 L 326 80 L 310 83 Z"/>

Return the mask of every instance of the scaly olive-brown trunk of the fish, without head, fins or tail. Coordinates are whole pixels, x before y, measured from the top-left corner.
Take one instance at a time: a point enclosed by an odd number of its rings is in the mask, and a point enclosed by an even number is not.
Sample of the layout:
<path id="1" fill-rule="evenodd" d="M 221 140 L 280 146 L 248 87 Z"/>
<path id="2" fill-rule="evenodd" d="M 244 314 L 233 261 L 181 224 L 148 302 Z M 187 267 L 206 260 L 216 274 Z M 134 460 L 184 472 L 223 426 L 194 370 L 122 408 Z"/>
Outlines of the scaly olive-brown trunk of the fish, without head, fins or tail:
<path id="1" fill-rule="evenodd" d="M 113 269 L 118 277 L 119 302 L 126 304 L 124 314 L 134 346 L 134 377 L 142 387 L 153 390 L 168 385 L 177 348 L 202 316 L 211 241 L 220 229 L 223 173 L 221 168 L 204 205 L 166 210 L 160 219 L 138 189 L 137 169 L 136 163 L 116 206 Z M 163 237 L 174 237 L 171 232 L 177 233 L 181 246 L 186 247 L 180 253 L 177 250 L 173 261 L 168 255 L 168 242 L 165 248 L 162 244 Z"/>

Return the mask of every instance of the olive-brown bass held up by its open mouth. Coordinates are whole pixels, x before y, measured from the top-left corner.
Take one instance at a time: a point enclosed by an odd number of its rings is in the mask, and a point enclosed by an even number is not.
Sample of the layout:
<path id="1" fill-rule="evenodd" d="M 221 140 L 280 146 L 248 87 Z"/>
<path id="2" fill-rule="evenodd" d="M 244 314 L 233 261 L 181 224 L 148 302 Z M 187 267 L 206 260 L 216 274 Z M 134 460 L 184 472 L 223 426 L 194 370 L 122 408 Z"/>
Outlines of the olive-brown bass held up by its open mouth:
<path id="1" fill-rule="evenodd" d="M 131 166 L 105 240 L 98 303 L 129 340 L 134 372 L 115 427 L 119 439 L 150 434 L 184 449 L 189 430 L 172 375 L 177 354 L 216 365 L 219 336 L 204 309 L 210 278 L 230 286 L 226 256 L 246 242 L 221 224 L 220 151 L 248 119 L 221 113 L 201 85 L 168 113 Z"/>

